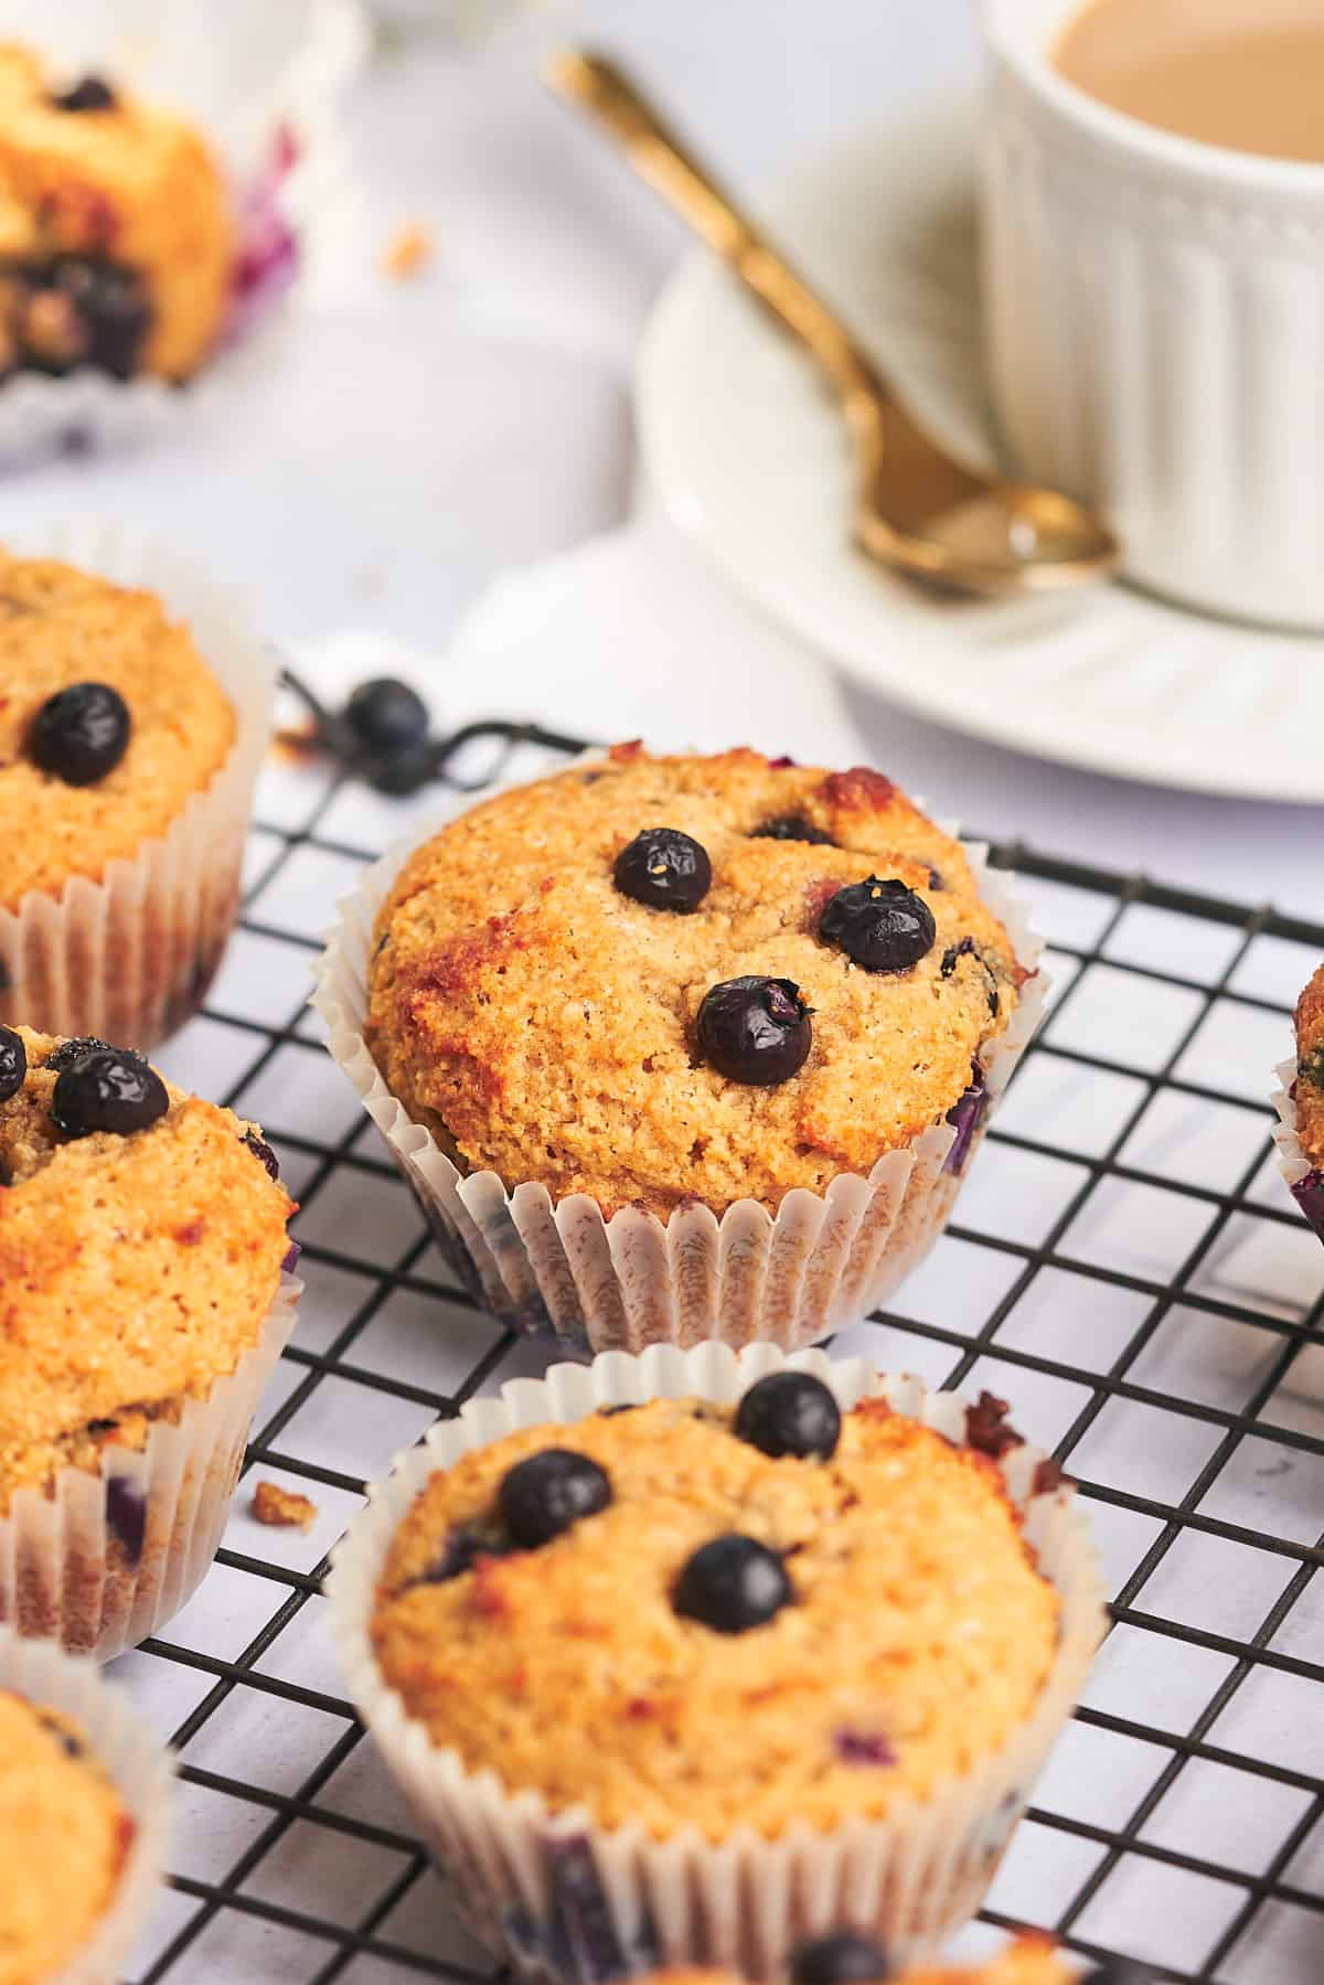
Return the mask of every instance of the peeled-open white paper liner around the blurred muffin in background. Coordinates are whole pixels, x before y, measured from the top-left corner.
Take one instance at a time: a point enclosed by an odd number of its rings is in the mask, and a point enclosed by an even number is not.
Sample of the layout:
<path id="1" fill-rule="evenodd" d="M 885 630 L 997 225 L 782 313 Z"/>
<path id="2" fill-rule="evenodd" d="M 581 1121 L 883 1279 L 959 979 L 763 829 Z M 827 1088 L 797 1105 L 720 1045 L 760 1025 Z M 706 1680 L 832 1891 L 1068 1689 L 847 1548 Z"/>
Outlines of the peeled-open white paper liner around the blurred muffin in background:
<path id="1" fill-rule="evenodd" d="M 226 0 L 220 18 L 206 0 L 0 0 L 0 40 L 32 44 L 71 75 L 121 77 L 195 117 L 230 175 L 240 238 L 266 214 L 296 256 L 290 282 L 236 296 L 230 331 L 185 385 L 91 367 L 14 373 L 0 383 L 0 464 L 115 449 L 222 413 L 280 357 L 298 294 L 355 254 L 357 193 L 335 107 L 371 46 L 361 6 Z M 274 167 L 284 159 L 288 171 Z"/>

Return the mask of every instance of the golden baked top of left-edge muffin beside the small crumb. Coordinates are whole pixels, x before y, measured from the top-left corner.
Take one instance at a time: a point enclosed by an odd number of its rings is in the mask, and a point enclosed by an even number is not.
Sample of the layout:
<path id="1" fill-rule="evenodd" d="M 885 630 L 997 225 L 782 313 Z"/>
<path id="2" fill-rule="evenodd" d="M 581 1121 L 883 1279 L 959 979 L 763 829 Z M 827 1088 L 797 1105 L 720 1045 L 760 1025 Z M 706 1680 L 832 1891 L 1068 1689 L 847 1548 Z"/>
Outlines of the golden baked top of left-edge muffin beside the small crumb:
<path id="1" fill-rule="evenodd" d="M 62 1467 L 143 1447 L 258 1340 L 288 1253 L 252 1125 L 165 1086 L 127 1135 L 52 1122 L 60 1044 L 26 1028 L 0 1102 L 0 1513 Z"/>

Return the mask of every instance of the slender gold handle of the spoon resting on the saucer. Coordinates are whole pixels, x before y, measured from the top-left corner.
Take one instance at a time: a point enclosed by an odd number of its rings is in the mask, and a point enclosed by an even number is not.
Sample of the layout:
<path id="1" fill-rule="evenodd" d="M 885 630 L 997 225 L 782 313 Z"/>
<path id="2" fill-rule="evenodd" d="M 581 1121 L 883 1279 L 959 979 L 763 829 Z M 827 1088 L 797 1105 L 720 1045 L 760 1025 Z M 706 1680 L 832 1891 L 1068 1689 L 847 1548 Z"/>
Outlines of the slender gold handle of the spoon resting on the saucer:
<path id="1" fill-rule="evenodd" d="M 562 97 L 592 111 L 629 163 L 822 365 L 850 411 L 885 391 L 842 320 L 717 187 L 629 77 L 605 56 L 562 50 L 546 67 Z"/>

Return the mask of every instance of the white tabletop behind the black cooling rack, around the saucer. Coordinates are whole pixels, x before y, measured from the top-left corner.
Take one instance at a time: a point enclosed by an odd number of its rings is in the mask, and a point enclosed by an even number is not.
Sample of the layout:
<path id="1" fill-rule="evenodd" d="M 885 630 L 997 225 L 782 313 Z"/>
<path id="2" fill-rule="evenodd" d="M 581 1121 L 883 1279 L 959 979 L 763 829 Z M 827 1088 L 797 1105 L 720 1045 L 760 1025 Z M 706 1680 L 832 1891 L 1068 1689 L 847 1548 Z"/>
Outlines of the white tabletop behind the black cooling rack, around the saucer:
<path id="1" fill-rule="evenodd" d="M 169 445 L 4 478 L 0 530 L 113 512 L 248 586 L 280 639 L 357 625 L 425 649 L 457 711 L 802 752 L 814 736 L 983 832 L 1324 915 L 1320 810 L 1165 794 L 939 730 L 848 689 L 653 518 L 574 578 L 550 576 L 556 653 L 520 637 L 478 697 L 464 655 L 447 665 L 494 580 L 631 512 L 631 357 L 685 252 L 536 83 L 538 52 L 562 38 L 625 54 L 750 197 L 806 149 L 979 64 L 967 0 L 564 0 L 516 14 L 480 54 L 389 58 L 349 113 L 359 234 L 270 377 Z M 391 284 L 375 258 L 413 218 L 433 224 L 437 258 Z"/>

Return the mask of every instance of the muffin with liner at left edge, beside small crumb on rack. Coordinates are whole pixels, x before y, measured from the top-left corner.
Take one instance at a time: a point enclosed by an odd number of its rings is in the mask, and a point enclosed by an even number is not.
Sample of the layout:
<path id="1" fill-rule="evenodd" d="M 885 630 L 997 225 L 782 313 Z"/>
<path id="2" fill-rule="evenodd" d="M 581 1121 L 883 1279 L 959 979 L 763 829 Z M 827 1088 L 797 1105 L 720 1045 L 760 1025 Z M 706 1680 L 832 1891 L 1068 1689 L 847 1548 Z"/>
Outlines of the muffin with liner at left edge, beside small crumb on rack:
<path id="1" fill-rule="evenodd" d="M 0 1028 L 0 1618 L 105 1652 L 173 1550 L 200 1576 L 292 1211 L 256 1125 L 129 1050 Z M 58 1497 L 91 1522 L 46 1562 L 26 1526 Z"/>

